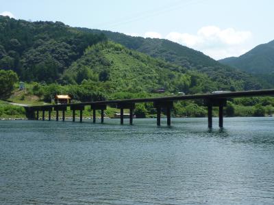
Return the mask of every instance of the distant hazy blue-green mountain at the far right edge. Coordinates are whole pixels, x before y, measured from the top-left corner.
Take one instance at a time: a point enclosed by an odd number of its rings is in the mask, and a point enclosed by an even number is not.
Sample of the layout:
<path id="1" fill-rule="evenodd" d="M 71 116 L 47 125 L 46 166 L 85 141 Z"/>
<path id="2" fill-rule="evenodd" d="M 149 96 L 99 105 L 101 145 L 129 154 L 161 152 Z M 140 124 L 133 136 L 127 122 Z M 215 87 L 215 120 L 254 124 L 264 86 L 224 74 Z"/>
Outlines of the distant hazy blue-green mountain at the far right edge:
<path id="1" fill-rule="evenodd" d="M 240 57 L 228 57 L 219 62 L 252 74 L 274 74 L 274 40 L 260 44 Z"/>

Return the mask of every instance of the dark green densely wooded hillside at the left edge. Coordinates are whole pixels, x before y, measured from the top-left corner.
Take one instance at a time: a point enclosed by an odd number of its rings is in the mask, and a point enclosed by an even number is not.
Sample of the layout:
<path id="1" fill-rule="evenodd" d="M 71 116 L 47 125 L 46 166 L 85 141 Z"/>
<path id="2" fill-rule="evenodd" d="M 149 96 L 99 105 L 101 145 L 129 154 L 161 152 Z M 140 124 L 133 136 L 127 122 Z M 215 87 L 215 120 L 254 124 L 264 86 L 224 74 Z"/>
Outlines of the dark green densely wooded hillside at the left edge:
<path id="1" fill-rule="evenodd" d="M 58 81 L 85 49 L 105 36 L 73 29 L 61 22 L 29 22 L 0 16 L 0 68 L 23 81 Z"/>

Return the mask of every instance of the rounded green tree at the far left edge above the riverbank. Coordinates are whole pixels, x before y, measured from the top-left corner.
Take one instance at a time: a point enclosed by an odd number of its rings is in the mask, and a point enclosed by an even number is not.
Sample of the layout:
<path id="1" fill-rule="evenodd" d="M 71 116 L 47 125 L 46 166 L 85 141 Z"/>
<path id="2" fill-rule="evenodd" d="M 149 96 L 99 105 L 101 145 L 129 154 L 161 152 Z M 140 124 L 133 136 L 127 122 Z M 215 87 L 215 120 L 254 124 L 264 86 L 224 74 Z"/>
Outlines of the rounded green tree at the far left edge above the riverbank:
<path id="1" fill-rule="evenodd" d="M 0 99 L 5 100 L 11 96 L 16 81 L 18 81 L 18 77 L 15 72 L 0 70 Z"/>

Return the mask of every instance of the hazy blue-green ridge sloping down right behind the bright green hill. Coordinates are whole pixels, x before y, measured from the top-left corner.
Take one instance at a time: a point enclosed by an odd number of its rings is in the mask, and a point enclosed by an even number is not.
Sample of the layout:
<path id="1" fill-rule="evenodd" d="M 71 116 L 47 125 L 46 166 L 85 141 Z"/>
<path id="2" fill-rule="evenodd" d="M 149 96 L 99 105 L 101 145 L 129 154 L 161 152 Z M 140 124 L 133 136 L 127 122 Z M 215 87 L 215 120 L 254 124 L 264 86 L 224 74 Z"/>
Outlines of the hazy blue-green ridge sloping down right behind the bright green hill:
<path id="1" fill-rule="evenodd" d="M 243 88 L 244 90 L 250 90 L 251 87 L 261 87 L 256 77 L 251 77 L 250 74 L 220 64 L 218 61 L 215 61 L 199 51 L 189 49 L 186 46 L 171 42 L 170 40 L 133 37 L 127 36 L 123 33 L 101 31 L 98 29 L 78 29 L 90 33 L 104 33 L 110 40 L 122 44 L 128 49 L 134 49 L 150 55 L 151 57 L 158 57 L 164 61 L 183 66 L 184 68 L 197 70 L 198 72 L 207 74 L 212 81 L 219 84 L 228 84 L 229 81 L 239 83 L 245 81 L 246 85 Z M 264 87 L 269 86 L 268 83 L 264 83 Z M 232 84 L 229 90 L 236 90 L 234 84 Z"/>

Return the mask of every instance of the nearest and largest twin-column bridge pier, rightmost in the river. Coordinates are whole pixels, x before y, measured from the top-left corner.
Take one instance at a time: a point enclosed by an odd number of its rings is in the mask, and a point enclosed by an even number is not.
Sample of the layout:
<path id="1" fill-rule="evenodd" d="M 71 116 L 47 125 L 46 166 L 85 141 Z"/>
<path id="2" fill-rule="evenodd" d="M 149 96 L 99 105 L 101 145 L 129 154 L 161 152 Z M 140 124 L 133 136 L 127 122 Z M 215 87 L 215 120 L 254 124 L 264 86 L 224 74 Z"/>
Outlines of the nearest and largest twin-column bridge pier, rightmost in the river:
<path id="1" fill-rule="evenodd" d="M 227 105 L 225 98 L 207 98 L 203 106 L 208 107 L 208 128 L 212 128 L 212 107 L 219 107 L 219 127 L 223 127 L 223 107 Z"/>

